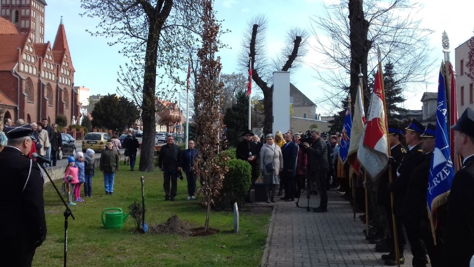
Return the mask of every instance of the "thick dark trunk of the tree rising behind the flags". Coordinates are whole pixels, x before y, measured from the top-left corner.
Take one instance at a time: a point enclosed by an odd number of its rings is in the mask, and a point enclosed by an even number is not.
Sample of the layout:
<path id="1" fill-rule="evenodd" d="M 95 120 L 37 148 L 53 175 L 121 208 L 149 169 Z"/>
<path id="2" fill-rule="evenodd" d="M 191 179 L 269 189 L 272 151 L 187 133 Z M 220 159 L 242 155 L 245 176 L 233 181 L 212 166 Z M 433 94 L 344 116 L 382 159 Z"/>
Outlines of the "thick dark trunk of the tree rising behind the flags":
<path id="1" fill-rule="evenodd" d="M 359 73 L 362 73 L 362 85 L 364 90 L 364 110 L 368 109 L 367 92 L 367 55 L 372 48 L 372 43 L 367 39 L 369 22 L 364 17 L 363 0 L 349 0 L 349 27 L 351 41 L 351 87 L 352 112 L 356 103 L 357 85 L 359 84 Z"/>

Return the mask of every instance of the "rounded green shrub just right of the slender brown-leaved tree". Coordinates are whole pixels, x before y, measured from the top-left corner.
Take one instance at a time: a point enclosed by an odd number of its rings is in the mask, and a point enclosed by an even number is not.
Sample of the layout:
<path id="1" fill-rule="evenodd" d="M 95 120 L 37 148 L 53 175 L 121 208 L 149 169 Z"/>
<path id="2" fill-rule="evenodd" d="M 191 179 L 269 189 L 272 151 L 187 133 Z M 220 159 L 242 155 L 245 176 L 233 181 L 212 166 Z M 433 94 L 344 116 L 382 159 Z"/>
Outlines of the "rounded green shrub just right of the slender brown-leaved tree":
<path id="1" fill-rule="evenodd" d="M 252 167 L 246 161 L 230 159 L 226 162 L 229 171 L 226 173 L 220 191 L 216 209 L 232 209 L 235 202 L 241 207 L 251 185 Z"/>

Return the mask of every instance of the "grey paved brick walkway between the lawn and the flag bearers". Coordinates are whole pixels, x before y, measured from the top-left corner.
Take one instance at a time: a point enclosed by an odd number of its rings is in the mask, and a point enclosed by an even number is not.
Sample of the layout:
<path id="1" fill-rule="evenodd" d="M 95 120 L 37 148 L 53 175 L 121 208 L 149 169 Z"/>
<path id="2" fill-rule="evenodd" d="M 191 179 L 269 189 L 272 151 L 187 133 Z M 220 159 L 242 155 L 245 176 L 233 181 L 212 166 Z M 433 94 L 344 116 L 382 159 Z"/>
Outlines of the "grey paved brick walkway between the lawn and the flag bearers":
<path id="1" fill-rule="evenodd" d="M 306 211 L 307 199 L 295 202 L 277 201 L 273 211 L 267 244 L 261 266 L 269 267 L 380 267 L 383 253 L 365 240 L 362 224 L 348 201 L 334 190 L 328 192 L 328 212 Z M 310 206 L 319 205 L 319 196 L 312 195 Z M 405 250 L 405 264 L 411 266 L 410 249 Z"/>

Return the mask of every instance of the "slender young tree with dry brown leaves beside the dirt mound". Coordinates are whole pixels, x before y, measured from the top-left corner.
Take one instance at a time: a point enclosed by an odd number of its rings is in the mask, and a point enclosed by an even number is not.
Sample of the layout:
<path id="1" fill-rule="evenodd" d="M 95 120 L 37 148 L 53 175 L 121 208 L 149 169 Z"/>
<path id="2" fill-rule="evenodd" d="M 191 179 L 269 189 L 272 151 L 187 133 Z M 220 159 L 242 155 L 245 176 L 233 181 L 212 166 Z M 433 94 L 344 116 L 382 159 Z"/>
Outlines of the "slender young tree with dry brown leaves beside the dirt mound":
<path id="1" fill-rule="evenodd" d="M 223 129 L 222 113 L 219 102 L 223 101 L 222 83 L 218 83 L 221 71 L 220 57 L 214 58 L 218 51 L 217 36 L 220 25 L 216 23 L 212 10 L 212 0 L 203 0 L 201 16 L 204 24 L 202 32 L 202 47 L 197 55 L 200 63 L 200 73 L 197 78 L 195 103 L 197 103 L 196 124 L 199 132 L 199 157 L 196 160 L 197 175 L 201 178 L 204 204 L 207 206 L 204 229 L 209 230 L 209 215 L 211 205 L 222 189 L 222 181 L 228 168 L 224 162 L 228 157 L 217 157 L 216 144 L 218 134 Z"/>

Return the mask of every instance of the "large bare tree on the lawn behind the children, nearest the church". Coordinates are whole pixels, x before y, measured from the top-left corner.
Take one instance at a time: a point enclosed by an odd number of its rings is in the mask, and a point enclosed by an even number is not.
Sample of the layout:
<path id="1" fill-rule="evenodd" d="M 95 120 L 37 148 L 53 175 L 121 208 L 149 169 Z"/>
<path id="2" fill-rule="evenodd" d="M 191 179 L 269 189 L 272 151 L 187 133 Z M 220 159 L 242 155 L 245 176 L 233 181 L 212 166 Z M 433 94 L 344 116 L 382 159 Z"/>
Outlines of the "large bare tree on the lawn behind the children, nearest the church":
<path id="1" fill-rule="evenodd" d="M 143 145 L 140 171 L 154 169 L 156 97 L 157 91 L 174 90 L 173 86 L 158 82 L 170 79 L 172 84 L 183 84 L 179 70 L 186 65 L 186 48 L 201 31 L 201 0 L 81 0 L 86 10 L 82 15 L 101 19 L 99 31 L 89 33 L 105 36 L 123 44 L 120 53 L 133 58 L 125 66 L 124 75 L 142 76 L 143 81 L 122 80 L 122 86 L 134 95 L 142 111 Z M 136 77 L 136 76 L 135 76 Z M 123 78 L 123 77 L 121 77 Z M 132 77 L 129 77 L 132 78 Z M 140 84 L 140 86 L 138 86 Z"/>

